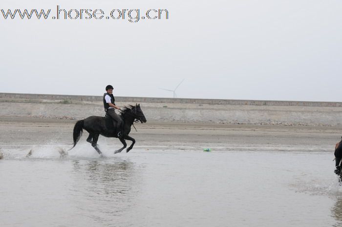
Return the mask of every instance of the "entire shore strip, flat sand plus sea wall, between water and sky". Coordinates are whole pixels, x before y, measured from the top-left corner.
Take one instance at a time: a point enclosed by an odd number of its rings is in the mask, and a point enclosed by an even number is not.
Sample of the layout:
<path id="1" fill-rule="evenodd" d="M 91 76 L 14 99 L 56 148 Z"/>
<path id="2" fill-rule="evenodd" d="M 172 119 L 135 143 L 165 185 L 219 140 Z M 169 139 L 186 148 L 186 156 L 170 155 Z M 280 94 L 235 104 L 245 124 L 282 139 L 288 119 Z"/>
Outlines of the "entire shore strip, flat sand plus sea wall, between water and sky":
<path id="1" fill-rule="evenodd" d="M 72 143 L 76 121 L 104 115 L 99 97 L 56 97 L 1 93 L 2 149 L 44 144 L 67 146 Z M 136 139 L 136 148 L 333 152 L 334 144 L 341 139 L 341 103 L 129 97 L 120 97 L 119 101 L 119 106 L 145 101 L 140 104 L 148 122 L 136 123 L 137 132 L 132 127 L 130 133 Z M 86 134 L 80 143 L 85 141 Z M 113 149 L 121 147 L 119 140 L 102 136 L 98 144 L 108 144 Z"/>

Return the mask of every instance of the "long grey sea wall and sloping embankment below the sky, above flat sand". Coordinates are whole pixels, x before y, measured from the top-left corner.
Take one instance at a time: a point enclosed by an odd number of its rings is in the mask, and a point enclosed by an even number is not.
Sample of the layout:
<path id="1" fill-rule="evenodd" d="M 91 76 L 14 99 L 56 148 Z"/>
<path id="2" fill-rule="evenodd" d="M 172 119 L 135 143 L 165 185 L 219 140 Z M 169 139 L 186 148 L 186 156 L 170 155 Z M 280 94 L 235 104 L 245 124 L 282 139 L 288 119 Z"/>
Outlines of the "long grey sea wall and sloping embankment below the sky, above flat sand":
<path id="1" fill-rule="evenodd" d="M 141 103 L 148 121 L 342 126 L 342 103 L 141 97 L 118 97 L 117 101 L 119 106 Z M 79 120 L 91 115 L 104 115 L 101 96 L 0 93 L 2 117 Z"/>

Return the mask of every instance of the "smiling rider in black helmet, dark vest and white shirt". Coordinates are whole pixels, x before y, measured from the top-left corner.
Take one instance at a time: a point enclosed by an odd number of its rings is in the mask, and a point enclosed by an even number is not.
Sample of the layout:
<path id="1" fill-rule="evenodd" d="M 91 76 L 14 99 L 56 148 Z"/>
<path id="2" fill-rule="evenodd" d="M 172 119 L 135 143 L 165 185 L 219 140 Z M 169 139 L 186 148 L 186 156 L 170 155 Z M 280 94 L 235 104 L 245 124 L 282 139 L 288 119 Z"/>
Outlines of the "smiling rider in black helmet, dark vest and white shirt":
<path id="1" fill-rule="evenodd" d="M 118 133 L 118 137 L 122 137 L 124 135 L 123 131 L 123 121 L 117 113 L 115 113 L 115 109 L 120 109 L 119 106 L 115 105 L 115 98 L 113 96 L 113 86 L 107 85 L 106 86 L 106 93 L 103 95 L 103 104 L 105 106 L 105 111 L 107 114 L 110 115 L 114 121 L 118 123 L 118 127 L 121 129 Z"/>

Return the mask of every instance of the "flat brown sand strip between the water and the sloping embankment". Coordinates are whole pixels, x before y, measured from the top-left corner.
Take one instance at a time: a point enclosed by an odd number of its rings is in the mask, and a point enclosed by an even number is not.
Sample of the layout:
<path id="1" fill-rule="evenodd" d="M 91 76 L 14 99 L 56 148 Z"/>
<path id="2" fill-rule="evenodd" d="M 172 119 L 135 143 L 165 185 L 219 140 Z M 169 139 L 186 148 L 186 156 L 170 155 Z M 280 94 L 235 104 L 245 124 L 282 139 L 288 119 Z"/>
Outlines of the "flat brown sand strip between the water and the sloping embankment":
<path id="1" fill-rule="evenodd" d="M 0 117 L 0 147 L 29 148 L 32 145 L 72 144 L 76 120 Z M 341 139 L 341 127 L 232 125 L 149 121 L 136 123 L 130 136 L 135 148 L 261 151 L 326 151 L 332 152 Z M 85 131 L 80 143 L 85 142 Z M 128 141 L 128 144 L 130 142 Z M 115 138 L 100 136 L 98 144 L 113 149 L 121 147 Z M 134 148 L 133 150 L 134 151 Z"/>

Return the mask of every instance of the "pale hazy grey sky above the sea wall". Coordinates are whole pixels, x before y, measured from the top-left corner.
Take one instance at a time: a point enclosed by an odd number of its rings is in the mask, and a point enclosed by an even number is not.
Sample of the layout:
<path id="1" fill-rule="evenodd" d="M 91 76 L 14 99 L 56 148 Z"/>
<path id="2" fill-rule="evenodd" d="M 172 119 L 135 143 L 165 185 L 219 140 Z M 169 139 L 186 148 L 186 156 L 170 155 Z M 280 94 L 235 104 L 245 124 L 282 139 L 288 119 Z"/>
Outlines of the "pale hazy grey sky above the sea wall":
<path id="1" fill-rule="evenodd" d="M 70 3 L 72 2 L 72 3 Z M 167 9 L 168 20 L 53 20 L 70 9 Z M 342 101 L 341 0 L 1 0 L 0 92 Z M 134 15 L 134 14 L 132 14 Z M 126 18 L 127 19 L 127 18 Z"/>

